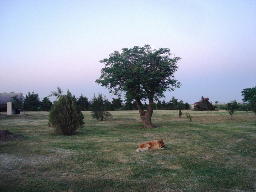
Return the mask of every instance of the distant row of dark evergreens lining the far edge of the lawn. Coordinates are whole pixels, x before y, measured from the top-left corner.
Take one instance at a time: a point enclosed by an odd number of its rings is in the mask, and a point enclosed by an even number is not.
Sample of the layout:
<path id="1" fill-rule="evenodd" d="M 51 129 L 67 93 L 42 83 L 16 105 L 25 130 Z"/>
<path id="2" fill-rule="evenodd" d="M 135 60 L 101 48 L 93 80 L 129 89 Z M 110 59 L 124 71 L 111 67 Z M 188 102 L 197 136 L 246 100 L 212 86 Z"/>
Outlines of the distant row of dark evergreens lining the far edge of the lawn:
<path id="1" fill-rule="evenodd" d="M 91 111 L 92 110 L 92 100 L 89 100 L 81 94 L 79 98 L 76 98 L 73 95 L 73 98 L 76 100 L 77 105 L 81 111 Z M 55 101 L 53 101 L 54 103 Z M 44 97 L 40 100 L 39 95 L 35 92 L 28 92 L 24 97 L 23 109 L 25 111 L 49 111 L 52 107 L 52 101 L 48 97 Z M 121 98 L 112 98 L 112 101 L 106 99 L 104 103 L 105 109 L 107 111 L 116 111 L 116 110 L 138 110 L 137 104 L 134 101 L 123 101 Z M 142 105 L 143 109 L 148 108 L 148 104 L 144 102 Z M 172 100 L 166 102 L 165 100 L 158 100 L 154 103 L 154 110 L 186 110 L 189 109 L 190 105 L 188 102 L 184 103 L 183 100 L 177 100 L 172 97 Z"/>

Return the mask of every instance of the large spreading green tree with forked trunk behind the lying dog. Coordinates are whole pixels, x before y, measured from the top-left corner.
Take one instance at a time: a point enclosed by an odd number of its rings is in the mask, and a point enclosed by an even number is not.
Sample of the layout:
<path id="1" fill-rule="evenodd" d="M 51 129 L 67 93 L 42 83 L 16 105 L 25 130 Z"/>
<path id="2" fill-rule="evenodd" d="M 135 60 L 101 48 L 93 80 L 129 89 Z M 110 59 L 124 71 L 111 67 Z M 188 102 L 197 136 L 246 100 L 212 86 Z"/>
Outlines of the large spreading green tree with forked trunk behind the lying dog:
<path id="1" fill-rule="evenodd" d="M 152 50 L 149 45 L 123 48 L 115 51 L 101 69 L 101 76 L 95 82 L 107 87 L 112 95 L 125 96 L 135 100 L 144 127 L 154 127 L 151 122 L 154 100 L 165 97 L 164 92 L 180 87 L 174 79 L 180 57 L 171 57 L 170 49 Z M 148 108 L 143 110 L 142 101 L 148 99 Z"/>

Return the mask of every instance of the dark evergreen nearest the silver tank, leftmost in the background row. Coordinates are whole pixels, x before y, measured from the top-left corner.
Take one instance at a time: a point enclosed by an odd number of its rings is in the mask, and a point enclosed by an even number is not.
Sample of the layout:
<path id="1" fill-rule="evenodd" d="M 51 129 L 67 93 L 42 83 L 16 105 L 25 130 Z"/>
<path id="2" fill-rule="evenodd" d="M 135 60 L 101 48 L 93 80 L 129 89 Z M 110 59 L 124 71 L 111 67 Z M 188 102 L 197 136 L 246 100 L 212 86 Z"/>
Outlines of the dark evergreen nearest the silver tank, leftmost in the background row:
<path id="1" fill-rule="evenodd" d="M 23 108 L 25 111 L 38 111 L 40 107 L 40 98 L 37 93 L 32 93 L 28 92 L 28 95 L 25 94 L 25 99 L 24 99 L 24 105 Z"/>

